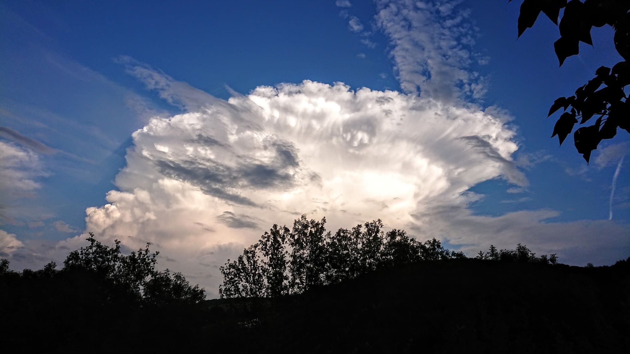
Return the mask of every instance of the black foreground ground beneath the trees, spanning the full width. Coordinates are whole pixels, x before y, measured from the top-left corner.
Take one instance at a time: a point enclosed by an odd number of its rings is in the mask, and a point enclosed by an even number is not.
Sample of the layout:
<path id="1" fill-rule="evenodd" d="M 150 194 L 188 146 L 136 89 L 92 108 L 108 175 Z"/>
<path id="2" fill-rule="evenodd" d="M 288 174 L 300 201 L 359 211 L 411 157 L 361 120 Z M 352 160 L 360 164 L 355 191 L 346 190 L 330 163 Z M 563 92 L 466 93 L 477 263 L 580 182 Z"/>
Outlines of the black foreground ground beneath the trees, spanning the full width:
<path id="1" fill-rule="evenodd" d="M 137 308 L 0 289 L 4 353 L 629 353 L 629 261 L 426 261 L 306 294 Z M 74 289 L 64 290 L 64 289 Z"/>

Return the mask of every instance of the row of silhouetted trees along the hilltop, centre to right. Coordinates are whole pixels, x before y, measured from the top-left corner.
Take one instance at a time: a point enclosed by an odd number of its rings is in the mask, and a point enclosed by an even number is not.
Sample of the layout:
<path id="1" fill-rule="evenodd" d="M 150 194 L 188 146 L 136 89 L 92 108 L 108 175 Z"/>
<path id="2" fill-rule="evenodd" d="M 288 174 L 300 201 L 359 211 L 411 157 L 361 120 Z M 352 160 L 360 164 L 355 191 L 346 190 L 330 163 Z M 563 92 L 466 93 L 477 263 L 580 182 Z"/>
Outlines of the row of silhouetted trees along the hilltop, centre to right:
<path id="1" fill-rule="evenodd" d="M 243 249 L 237 260 L 221 266 L 221 298 L 280 297 L 301 294 L 372 273 L 384 267 L 409 265 L 420 261 L 466 259 L 463 252 L 450 251 L 435 238 L 420 242 L 404 230 L 383 231 L 380 219 L 357 225 L 351 230 L 326 232 L 326 218 L 294 220 L 292 229 L 274 224 L 258 243 Z M 481 260 L 511 263 L 555 264 L 556 255 L 540 258 L 521 244 L 517 248 L 490 246 L 479 252 Z"/>

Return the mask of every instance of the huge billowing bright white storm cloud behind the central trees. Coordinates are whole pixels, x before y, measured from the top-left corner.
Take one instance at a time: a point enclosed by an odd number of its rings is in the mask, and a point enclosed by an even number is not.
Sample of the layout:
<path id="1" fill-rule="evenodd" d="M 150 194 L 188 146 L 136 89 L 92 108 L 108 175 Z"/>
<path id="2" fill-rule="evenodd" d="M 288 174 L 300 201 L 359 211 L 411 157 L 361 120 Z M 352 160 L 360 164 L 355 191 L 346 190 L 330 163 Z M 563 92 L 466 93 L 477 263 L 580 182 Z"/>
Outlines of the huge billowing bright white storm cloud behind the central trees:
<path id="1" fill-rule="evenodd" d="M 190 89 L 160 75 L 140 77 L 188 100 Z M 210 292 L 221 281 L 214 267 L 275 222 L 307 213 L 332 229 L 379 217 L 419 227 L 413 214 L 465 207 L 481 181 L 527 185 L 510 157 L 514 132 L 482 111 L 312 81 L 195 106 L 133 134 L 119 190 L 88 208 L 86 225 L 130 248 L 151 241 Z"/>

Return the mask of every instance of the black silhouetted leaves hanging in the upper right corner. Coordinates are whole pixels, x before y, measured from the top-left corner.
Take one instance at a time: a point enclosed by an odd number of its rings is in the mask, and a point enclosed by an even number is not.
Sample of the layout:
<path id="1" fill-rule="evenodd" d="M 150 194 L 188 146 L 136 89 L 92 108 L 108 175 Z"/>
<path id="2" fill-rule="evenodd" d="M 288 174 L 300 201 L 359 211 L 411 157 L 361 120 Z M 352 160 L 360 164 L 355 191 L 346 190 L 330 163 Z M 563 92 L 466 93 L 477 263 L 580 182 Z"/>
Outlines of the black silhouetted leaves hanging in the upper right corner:
<path id="1" fill-rule="evenodd" d="M 510 2 L 512 0 L 508 0 Z M 558 25 L 560 9 L 564 8 Z M 549 115 L 563 108 L 563 113 L 554 126 L 553 135 L 558 135 L 560 145 L 571 134 L 575 123 L 586 123 L 597 117 L 595 123 L 580 127 L 573 134 L 578 153 L 590 160 L 590 154 L 604 139 L 612 139 L 617 127 L 630 132 L 630 108 L 624 91 L 630 83 L 630 1 L 627 0 L 524 0 L 518 16 L 518 37 L 534 25 L 541 13 L 559 26 L 560 38 L 554 49 L 560 66 L 571 55 L 580 52 L 579 43 L 593 45 L 590 30 L 593 26 L 612 26 L 613 41 L 619 55 L 624 59 L 612 67 L 602 66 L 595 71 L 595 77 L 576 89 L 575 95 L 560 97 L 549 109 Z M 600 87 L 604 84 L 604 88 Z M 571 109 L 569 110 L 569 107 Z"/>

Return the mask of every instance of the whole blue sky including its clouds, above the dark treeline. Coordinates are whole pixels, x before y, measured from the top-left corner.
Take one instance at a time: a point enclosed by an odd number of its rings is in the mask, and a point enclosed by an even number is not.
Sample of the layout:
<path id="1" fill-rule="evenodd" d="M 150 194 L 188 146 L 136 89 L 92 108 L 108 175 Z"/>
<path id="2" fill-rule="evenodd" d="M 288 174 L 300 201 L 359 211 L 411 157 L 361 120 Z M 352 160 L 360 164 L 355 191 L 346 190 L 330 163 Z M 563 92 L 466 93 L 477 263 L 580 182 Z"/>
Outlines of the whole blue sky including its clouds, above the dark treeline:
<path id="1" fill-rule="evenodd" d="M 80 245 L 77 235 L 95 231 L 130 248 L 152 241 L 179 262 L 169 267 L 212 289 L 215 265 L 295 213 L 327 216 L 331 227 L 381 217 L 471 254 L 491 243 L 521 242 L 572 264 L 626 258 L 630 172 L 623 164 L 612 204 L 610 192 L 629 135 L 620 130 L 602 142 L 587 166 L 571 137 L 562 147 L 549 138 L 555 116 L 545 118 L 555 98 L 570 96 L 597 67 L 621 60 L 610 28 L 594 28 L 594 48 L 581 43 L 580 55 L 558 67 L 558 28 L 541 16 L 517 40 L 517 3 L 337 3 L 0 4 L 0 142 L 7 149 L 0 246 L 11 247 L 3 252 L 12 264 L 62 259 Z M 338 82 L 349 87 L 331 86 Z M 359 94 L 360 88 L 372 91 Z M 384 117 L 404 118 L 399 139 L 372 117 L 382 97 L 391 105 Z M 250 117 L 259 114 L 252 102 L 263 107 L 258 118 Z M 268 125 L 272 116 L 286 118 L 290 128 Z M 296 132 L 292 119 L 310 130 Z M 214 132 L 207 137 L 225 134 L 224 144 L 235 145 L 224 156 L 207 150 L 207 139 L 205 146 L 186 145 L 190 139 L 181 140 L 180 130 L 194 122 L 200 132 Z M 247 136 L 256 140 L 264 132 L 260 142 L 234 142 L 241 140 L 230 134 L 255 123 L 262 130 Z M 340 135 L 353 142 L 347 149 L 336 143 L 336 128 L 350 134 Z M 175 152 L 182 146 L 186 159 Z M 278 163 L 278 146 L 299 163 Z M 462 156 L 458 146 L 466 147 Z M 271 147 L 275 157 L 265 155 Z M 409 149 L 416 156 L 405 155 Z M 244 169 L 240 159 L 264 165 L 277 180 L 249 180 L 257 170 Z M 209 185 L 200 171 L 217 161 L 234 175 Z M 413 198 L 399 197 L 404 193 Z M 166 206 L 152 209 L 164 195 Z M 225 195 L 256 207 L 226 202 Z M 145 197 L 151 202 L 142 207 L 129 202 Z M 276 197 L 284 199 L 261 202 Z M 347 200 L 335 205 L 340 198 Z M 365 207 L 370 203 L 376 206 Z M 168 226 L 155 221 L 162 219 Z"/>

